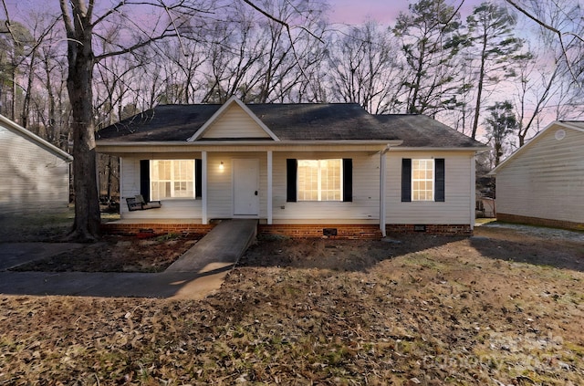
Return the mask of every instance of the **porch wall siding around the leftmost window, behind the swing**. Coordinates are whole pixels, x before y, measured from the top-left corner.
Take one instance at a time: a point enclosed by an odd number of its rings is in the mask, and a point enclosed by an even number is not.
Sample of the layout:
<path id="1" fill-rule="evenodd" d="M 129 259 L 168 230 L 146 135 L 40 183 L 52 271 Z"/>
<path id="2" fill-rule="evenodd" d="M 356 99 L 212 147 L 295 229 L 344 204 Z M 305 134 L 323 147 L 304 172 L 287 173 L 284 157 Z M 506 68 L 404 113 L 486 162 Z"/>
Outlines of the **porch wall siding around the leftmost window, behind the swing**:
<path id="1" fill-rule="evenodd" d="M 161 158 L 167 158 L 170 154 L 161 154 Z M 197 154 L 180 154 L 183 159 L 199 158 Z M 140 158 L 122 158 L 120 162 L 120 214 L 124 220 L 128 219 L 180 219 L 190 221 L 201 220 L 201 200 L 194 198 L 162 199 L 162 207 L 146 211 L 128 210 L 126 198 L 140 194 Z M 152 199 L 152 198 L 151 198 Z"/>

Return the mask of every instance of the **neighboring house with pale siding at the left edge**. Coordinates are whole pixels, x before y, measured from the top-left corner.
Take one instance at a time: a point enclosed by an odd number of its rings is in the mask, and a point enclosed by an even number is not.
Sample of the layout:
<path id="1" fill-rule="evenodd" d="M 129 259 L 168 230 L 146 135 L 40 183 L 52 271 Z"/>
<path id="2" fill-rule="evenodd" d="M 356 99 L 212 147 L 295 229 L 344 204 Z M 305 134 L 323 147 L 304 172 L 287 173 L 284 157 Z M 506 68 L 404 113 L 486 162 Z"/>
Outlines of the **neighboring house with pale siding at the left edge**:
<path id="1" fill-rule="evenodd" d="M 0 218 L 67 211 L 67 152 L 0 115 L 0 158 Z"/>

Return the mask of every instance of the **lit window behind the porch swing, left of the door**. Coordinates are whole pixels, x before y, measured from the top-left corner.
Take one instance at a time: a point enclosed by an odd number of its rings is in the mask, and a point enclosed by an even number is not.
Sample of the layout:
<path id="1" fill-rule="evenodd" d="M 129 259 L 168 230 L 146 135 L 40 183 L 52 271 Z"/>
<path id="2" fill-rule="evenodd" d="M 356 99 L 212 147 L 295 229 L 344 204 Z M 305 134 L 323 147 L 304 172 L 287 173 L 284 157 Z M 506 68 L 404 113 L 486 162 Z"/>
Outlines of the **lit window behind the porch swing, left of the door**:
<path id="1" fill-rule="evenodd" d="M 194 160 L 151 160 L 151 200 L 194 197 Z"/>

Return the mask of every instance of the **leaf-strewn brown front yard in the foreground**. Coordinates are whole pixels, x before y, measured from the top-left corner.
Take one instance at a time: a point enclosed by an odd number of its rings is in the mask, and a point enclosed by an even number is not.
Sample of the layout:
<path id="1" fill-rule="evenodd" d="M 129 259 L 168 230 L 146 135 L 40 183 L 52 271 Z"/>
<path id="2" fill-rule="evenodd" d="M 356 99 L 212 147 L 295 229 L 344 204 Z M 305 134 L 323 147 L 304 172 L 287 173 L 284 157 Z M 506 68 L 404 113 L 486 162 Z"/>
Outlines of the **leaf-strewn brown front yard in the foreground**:
<path id="1" fill-rule="evenodd" d="M 0 295 L 0 384 L 581 385 L 583 286 L 579 233 L 265 239 L 202 301 Z"/>

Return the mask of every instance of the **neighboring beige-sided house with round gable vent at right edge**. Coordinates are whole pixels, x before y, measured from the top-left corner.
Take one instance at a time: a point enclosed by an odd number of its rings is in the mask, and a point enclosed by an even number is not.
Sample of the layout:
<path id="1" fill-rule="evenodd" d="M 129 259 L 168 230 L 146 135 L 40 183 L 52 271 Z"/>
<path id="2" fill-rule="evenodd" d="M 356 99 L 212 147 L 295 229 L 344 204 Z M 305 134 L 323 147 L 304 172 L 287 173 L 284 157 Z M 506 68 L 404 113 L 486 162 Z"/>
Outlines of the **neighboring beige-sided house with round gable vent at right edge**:
<path id="1" fill-rule="evenodd" d="M 555 121 L 501 162 L 500 221 L 584 229 L 584 121 Z"/>

